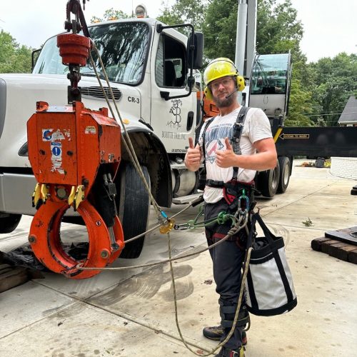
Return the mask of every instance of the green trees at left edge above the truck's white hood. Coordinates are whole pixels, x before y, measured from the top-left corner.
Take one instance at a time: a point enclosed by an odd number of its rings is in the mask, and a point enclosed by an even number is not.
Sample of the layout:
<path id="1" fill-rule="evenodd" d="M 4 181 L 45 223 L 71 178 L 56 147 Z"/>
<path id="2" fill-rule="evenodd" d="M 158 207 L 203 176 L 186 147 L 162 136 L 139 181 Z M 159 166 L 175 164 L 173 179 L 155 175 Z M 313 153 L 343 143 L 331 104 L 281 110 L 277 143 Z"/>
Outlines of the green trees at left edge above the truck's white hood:
<path id="1" fill-rule="evenodd" d="M 0 73 L 30 73 L 31 49 L 20 46 L 7 32 L 0 32 Z"/>

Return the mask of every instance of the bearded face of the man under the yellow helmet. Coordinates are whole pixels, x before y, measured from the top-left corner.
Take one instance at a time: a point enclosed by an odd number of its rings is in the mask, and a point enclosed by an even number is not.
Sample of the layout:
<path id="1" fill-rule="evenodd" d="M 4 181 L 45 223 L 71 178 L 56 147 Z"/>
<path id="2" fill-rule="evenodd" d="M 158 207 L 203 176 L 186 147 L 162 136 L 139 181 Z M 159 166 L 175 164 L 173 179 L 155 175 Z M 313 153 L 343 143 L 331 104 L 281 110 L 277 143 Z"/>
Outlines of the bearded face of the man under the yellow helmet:
<path id="1" fill-rule="evenodd" d="M 216 79 L 209 84 L 209 87 L 211 89 L 213 101 L 216 103 L 218 108 L 231 106 L 233 102 L 236 101 L 236 96 L 234 96 L 234 94 L 228 96 L 236 89 L 234 77 L 225 76 Z M 226 98 L 226 96 L 228 96 L 228 98 Z"/>

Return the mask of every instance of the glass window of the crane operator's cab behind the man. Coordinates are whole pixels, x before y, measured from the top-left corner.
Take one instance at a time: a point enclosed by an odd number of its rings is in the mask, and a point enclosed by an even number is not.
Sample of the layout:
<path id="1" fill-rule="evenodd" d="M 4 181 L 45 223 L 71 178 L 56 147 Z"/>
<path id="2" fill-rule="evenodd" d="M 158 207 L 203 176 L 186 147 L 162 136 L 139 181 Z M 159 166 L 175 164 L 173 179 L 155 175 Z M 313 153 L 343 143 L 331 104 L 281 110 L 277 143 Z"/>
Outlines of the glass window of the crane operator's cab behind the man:
<path id="1" fill-rule="evenodd" d="M 290 54 L 263 54 L 253 64 L 251 94 L 284 94 Z"/>

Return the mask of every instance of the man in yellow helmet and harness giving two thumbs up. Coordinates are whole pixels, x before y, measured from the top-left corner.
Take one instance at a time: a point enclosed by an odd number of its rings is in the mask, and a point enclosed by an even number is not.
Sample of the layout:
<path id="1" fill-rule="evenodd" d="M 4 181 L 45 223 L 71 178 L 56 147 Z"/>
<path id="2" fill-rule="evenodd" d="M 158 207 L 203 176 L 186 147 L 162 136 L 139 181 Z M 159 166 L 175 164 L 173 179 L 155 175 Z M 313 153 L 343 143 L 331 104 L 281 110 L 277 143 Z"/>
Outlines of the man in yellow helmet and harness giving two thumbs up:
<path id="1" fill-rule="evenodd" d="M 206 96 L 208 99 L 213 99 L 219 115 L 211 121 L 208 119 L 203 125 L 196 147 L 193 146 L 193 139 L 188 139 L 189 148 L 185 164 L 188 170 L 197 171 L 201 161 L 205 161 L 207 181 L 203 198 L 205 220 L 208 220 L 216 217 L 221 211 L 236 213 L 237 207 L 232 208 L 232 201 L 229 201 L 225 194 L 228 184 L 233 185 L 236 196 L 246 193 L 252 198 L 251 188 L 256 171 L 273 169 L 276 166 L 277 155 L 268 118 L 261 109 L 257 108 L 249 109 L 243 121 L 239 141 L 241 154 L 233 151 L 230 139 L 233 125 L 242 108 L 238 103 L 236 91 L 244 88 L 243 77 L 238 75 L 233 62 L 226 58 L 213 60 L 204 71 L 203 81 L 206 85 Z M 236 176 L 236 179 L 232 180 L 233 176 Z M 247 204 L 248 200 L 245 203 Z M 230 229 L 231 222 L 223 225 L 213 223 L 207 226 L 208 246 L 226 236 Z M 241 289 L 245 243 L 246 231 L 242 229 L 210 250 L 222 320 L 221 326 L 203 329 L 203 335 L 208 338 L 221 337 L 223 341 L 233 326 Z M 244 315 L 247 313 L 243 302 L 239 316 Z M 242 332 L 242 324 L 237 323 L 233 335 L 216 357 L 244 356 Z"/>

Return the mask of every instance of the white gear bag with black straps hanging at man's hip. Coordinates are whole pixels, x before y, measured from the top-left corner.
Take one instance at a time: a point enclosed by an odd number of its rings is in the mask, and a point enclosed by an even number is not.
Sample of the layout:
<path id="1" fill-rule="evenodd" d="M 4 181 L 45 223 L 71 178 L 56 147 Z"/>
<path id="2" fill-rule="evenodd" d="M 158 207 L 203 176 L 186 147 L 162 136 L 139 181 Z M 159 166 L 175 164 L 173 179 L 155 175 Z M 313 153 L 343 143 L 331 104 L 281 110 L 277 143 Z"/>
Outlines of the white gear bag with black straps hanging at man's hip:
<path id="1" fill-rule="evenodd" d="M 256 223 L 263 237 L 253 238 Z M 247 247 L 252 246 L 245 281 L 246 306 L 258 316 L 274 316 L 291 311 L 297 304 L 293 278 L 286 261 L 283 237 L 269 231 L 259 213 L 252 217 Z"/>

